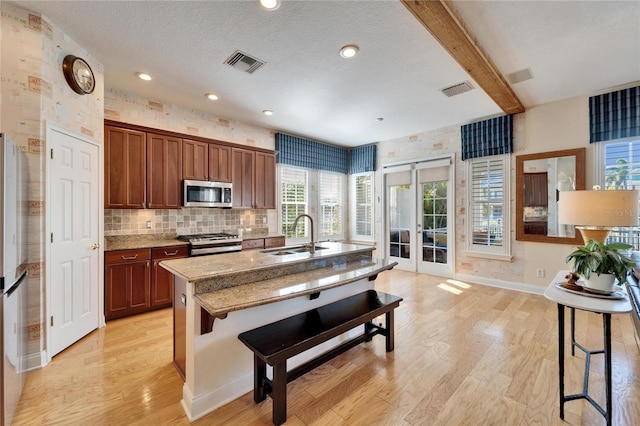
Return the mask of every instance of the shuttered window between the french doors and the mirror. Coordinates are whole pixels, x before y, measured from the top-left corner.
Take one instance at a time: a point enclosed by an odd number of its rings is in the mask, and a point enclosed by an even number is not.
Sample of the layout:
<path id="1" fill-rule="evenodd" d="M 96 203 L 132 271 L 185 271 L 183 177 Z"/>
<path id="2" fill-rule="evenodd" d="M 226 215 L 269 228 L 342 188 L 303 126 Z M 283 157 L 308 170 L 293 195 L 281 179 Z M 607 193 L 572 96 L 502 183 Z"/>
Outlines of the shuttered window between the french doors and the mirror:
<path id="1" fill-rule="evenodd" d="M 509 171 L 508 154 L 467 160 L 469 252 L 510 256 Z"/>

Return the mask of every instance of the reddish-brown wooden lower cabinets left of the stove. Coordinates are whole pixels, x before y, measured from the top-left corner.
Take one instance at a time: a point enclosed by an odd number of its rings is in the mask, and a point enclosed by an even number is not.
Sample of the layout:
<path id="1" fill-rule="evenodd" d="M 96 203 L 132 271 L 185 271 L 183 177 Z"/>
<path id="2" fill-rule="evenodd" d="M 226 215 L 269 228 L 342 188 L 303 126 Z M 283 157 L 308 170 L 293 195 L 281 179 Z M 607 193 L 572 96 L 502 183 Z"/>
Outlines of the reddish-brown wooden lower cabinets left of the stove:
<path id="1" fill-rule="evenodd" d="M 171 306 L 173 275 L 158 263 L 187 253 L 186 245 L 105 253 L 105 318 Z"/>

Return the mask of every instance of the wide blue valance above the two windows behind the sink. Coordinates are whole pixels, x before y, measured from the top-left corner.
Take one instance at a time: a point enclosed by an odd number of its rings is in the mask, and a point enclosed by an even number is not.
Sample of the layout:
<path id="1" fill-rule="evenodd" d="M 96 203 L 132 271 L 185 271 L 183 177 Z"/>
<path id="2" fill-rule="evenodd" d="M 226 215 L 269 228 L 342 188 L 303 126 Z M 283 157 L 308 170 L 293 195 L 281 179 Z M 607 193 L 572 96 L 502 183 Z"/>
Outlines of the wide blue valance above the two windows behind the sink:
<path id="1" fill-rule="evenodd" d="M 276 162 L 307 169 L 347 174 L 348 151 L 285 133 L 276 133 Z"/>

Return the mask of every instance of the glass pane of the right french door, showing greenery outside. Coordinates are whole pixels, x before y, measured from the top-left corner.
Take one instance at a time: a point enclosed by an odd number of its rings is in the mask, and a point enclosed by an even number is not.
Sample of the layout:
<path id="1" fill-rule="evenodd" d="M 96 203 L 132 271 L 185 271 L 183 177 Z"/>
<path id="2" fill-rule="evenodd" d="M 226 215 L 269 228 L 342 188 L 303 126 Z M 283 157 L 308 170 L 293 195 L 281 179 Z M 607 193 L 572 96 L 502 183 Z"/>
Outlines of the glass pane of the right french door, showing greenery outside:
<path id="1" fill-rule="evenodd" d="M 422 184 L 422 261 L 447 263 L 447 182 Z"/>

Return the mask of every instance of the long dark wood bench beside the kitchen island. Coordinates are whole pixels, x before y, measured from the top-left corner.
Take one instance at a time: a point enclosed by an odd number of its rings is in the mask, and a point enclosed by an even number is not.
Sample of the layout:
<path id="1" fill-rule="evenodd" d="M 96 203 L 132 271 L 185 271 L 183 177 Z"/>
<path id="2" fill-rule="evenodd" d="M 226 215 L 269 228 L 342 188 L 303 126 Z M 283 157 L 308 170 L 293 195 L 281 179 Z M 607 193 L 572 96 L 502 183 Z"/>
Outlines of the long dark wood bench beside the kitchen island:
<path id="1" fill-rule="evenodd" d="M 287 421 L 287 383 L 297 379 L 335 356 L 370 341 L 386 337 L 387 352 L 393 351 L 393 310 L 402 298 L 368 290 L 328 305 L 294 315 L 238 336 L 253 351 L 253 400 L 267 395 L 273 400 L 273 423 Z M 372 320 L 385 315 L 385 326 Z M 287 372 L 287 360 L 355 327 L 364 325 L 364 333 Z M 273 379 L 266 375 L 266 364 L 273 367 Z"/>

